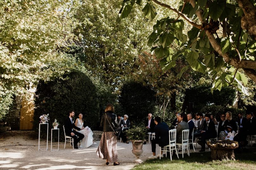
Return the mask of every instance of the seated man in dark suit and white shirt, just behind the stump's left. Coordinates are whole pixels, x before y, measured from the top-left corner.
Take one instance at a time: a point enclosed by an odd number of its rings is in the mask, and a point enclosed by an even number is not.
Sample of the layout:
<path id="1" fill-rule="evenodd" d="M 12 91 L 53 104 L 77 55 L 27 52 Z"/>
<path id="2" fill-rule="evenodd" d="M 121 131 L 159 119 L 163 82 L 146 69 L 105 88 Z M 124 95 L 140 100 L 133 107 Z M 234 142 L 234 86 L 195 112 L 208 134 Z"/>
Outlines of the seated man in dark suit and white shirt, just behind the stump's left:
<path id="1" fill-rule="evenodd" d="M 202 146 L 201 150 L 199 152 L 204 152 L 205 151 L 205 140 L 206 139 L 211 139 L 211 138 L 216 138 L 217 137 L 217 132 L 215 129 L 215 124 L 210 120 L 210 115 L 205 114 L 205 122 L 206 122 L 206 128 L 204 131 L 201 131 L 201 144 Z"/>

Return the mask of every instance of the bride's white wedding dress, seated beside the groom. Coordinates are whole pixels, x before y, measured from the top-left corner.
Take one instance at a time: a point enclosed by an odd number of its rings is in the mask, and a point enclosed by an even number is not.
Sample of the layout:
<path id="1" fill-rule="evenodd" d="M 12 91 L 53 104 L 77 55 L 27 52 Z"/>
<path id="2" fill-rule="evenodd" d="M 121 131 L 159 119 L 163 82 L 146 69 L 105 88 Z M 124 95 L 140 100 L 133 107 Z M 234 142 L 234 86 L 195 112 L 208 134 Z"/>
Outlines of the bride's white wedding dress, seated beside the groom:
<path id="1" fill-rule="evenodd" d="M 76 127 L 79 127 L 79 128 L 83 127 L 83 123 L 81 124 L 79 119 L 78 119 Z M 88 148 L 89 146 L 91 146 L 93 144 L 93 136 L 92 136 L 93 133 L 92 133 L 92 130 L 88 126 L 82 130 L 77 131 L 77 132 L 82 133 L 84 135 L 84 138 L 80 141 L 81 148 Z"/>

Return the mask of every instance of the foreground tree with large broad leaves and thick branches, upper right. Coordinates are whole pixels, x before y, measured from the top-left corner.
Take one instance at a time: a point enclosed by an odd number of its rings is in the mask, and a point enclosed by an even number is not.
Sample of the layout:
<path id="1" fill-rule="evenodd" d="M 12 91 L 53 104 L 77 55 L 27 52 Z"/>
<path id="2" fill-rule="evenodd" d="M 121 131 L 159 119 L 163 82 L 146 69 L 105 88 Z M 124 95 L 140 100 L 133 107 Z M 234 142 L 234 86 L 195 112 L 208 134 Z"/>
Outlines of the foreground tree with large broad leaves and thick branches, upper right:
<path id="1" fill-rule="evenodd" d="M 181 74 L 189 67 L 202 73 L 208 71 L 213 79 L 212 90 L 234 85 L 248 93 L 242 85 L 247 84 L 243 72 L 256 82 L 255 1 L 184 0 L 178 9 L 167 0 L 124 0 L 117 22 L 131 13 L 135 3 L 144 5 L 142 11 L 149 20 L 157 14 L 155 4 L 178 14 L 177 18 L 157 20 L 148 37 L 163 70 L 174 67 L 183 54 L 188 65 Z M 183 33 L 184 20 L 192 26 L 187 35 Z"/>

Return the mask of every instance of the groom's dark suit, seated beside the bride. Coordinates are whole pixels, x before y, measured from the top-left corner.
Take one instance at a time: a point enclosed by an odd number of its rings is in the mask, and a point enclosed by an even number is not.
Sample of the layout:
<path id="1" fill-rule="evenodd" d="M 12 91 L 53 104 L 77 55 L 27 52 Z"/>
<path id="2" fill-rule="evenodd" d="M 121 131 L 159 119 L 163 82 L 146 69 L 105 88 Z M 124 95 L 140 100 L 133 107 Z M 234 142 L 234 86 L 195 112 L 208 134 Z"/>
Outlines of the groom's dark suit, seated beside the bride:
<path id="1" fill-rule="evenodd" d="M 76 146 L 76 144 L 84 138 L 84 135 L 82 133 L 79 133 L 73 130 L 73 128 L 77 130 L 81 130 L 81 129 L 79 127 L 76 127 L 75 124 L 73 123 L 73 120 L 71 122 L 69 117 L 65 119 L 64 127 L 65 127 L 66 136 L 70 136 L 71 138 L 74 139 L 74 146 Z M 75 134 L 74 136 L 71 136 L 72 132 Z"/>

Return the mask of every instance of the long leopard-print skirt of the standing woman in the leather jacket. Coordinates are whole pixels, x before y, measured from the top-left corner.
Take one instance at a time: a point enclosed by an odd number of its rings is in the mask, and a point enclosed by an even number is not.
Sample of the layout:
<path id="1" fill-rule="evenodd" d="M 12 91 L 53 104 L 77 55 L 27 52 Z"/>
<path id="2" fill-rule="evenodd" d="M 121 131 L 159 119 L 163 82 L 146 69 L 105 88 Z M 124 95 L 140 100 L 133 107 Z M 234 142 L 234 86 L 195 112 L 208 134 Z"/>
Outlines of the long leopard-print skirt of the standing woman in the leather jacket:
<path id="1" fill-rule="evenodd" d="M 117 140 L 114 132 L 103 132 L 101 142 L 97 149 L 99 158 L 107 159 L 108 162 L 117 162 Z"/>

